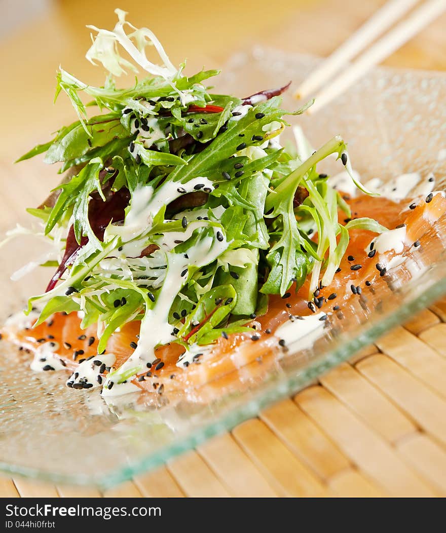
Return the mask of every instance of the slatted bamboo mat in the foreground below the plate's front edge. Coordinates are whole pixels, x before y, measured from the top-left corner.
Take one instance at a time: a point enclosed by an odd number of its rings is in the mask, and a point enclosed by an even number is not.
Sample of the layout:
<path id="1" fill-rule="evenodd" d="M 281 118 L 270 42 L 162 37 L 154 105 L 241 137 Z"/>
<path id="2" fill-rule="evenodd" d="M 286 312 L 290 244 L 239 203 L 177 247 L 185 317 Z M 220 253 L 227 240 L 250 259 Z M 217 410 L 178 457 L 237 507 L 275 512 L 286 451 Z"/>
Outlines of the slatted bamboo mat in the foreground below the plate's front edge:
<path id="1" fill-rule="evenodd" d="M 443 298 L 294 398 L 103 494 L 0 478 L 0 496 L 446 496 L 445 321 Z"/>

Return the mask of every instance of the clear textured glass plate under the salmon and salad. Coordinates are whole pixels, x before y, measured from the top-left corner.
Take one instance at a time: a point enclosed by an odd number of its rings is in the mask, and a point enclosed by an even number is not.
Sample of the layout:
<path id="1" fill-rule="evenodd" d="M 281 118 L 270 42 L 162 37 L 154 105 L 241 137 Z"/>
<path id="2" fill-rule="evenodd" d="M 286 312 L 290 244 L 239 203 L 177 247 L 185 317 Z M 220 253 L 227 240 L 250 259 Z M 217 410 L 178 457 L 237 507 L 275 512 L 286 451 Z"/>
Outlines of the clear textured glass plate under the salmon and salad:
<path id="1" fill-rule="evenodd" d="M 244 96 L 289 80 L 296 86 L 316 62 L 255 47 L 232 58 L 217 88 Z M 443 189 L 445 101 L 445 75 L 377 69 L 315 117 L 290 122 L 303 126 L 313 146 L 343 135 L 363 179 L 379 176 L 387 181 L 405 172 L 423 177 L 434 172 L 436 189 Z M 298 107 L 291 92 L 284 106 Z M 333 164 L 331 160 L 328 166 Z M 265 357 L 182 398 L 126 395 L 107 404 L 97 391 L 73 393 L 60 373 L 28 372 L 25 356 L 2 343 L 0 469 L 107 488 L 231 429 L 444 294 L 445 235 L 443 217 L 423 239 L 415 261 L 418 271 L 412 268 L 411 274 L 404 266 L 395 270 L 385 288 L 367 293 L 366 305 L 351 298 L 344 319 L 331 321 L 313 349 L 284 353 L 280 360 Z"/>

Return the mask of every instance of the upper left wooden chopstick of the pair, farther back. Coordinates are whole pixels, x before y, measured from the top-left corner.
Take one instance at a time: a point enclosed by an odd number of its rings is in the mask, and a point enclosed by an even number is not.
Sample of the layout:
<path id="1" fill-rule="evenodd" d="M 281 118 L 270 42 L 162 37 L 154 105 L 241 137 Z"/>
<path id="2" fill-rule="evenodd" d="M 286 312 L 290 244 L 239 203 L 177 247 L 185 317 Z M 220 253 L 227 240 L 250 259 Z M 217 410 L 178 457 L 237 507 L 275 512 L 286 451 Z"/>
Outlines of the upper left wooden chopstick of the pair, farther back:
<path id="1" fill-rule="evenodd" d="M 320 66 L 311 72 L 298 87 L 296 98 L 317 91 L 328 79 L 341 70 L 351 59 L 383 34 L 394 22 L 407 13 L 419 0 L 391 0 L 374 13 L 358 30 L 339 46 Z"/>

